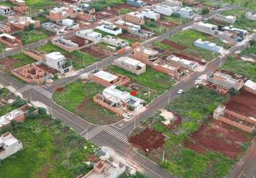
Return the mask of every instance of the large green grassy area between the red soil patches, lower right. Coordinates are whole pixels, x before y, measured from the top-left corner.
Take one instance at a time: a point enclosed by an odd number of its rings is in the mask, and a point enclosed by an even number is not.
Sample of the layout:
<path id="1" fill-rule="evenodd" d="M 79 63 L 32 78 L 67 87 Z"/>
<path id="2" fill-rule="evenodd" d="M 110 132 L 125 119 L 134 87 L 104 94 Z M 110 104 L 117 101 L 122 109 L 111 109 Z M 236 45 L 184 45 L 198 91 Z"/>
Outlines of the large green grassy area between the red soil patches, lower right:
<path id="1" fill-rule="evenodd" d="M 177 112 L 182 116 L 181 125 L 174 130 L 169 130 L 162 124 L 162 116 L 156 114 L 143 122 L 142 126 L 137 127 L 132 135 L 148 126 L 162 132 L 167 137 L 163 148 L 154 150 L 147 157 L 172 172 L 176 177 L 225 177 L 234 164 L 234 160 L 217 152 L 209 151 L 201 155 L 183 146 L 184 139 L 195 132 L 202 122 L 208 120 L 217 105 L 225 100 L 227 98 L 218 95 L 213 90 L 201 87 L 192 88 L 179 98 L 172 100 L 167 107 L 167 110 Z M 163 150 L 164 162 L 162 162 Z"/>

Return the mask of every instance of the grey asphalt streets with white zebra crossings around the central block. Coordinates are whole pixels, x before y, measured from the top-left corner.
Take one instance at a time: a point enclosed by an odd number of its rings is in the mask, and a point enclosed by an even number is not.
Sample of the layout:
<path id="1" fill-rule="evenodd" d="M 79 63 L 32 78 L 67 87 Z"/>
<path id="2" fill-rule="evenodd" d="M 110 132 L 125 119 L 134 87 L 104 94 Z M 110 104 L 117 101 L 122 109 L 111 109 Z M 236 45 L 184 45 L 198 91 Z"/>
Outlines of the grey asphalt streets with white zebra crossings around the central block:
<path id="1" fill-rule="evenodd" d="M 217 11 L 214 14 L 219 12 L 220 11 Z M 180 31 L 182 28 L 190 26 L 191 24 L 192 23 L 188 23 L 184 26 L 174 28 L 171 31 L 164 33 L 163 35 L 154 38 L 153 41 L 144 41 L 142 45 L 150 46 L 152 45 L 152 43 L 162 41 L 162 39 L 167 38 L 167 36 L 177 33 L 177 31 Z M 157 164 L 150 161 L 146 157 L 139 155 L 136 152 L 136 150 L 132 149 L 132 147 L 129 147 L 128 137 L 130 132 L 132 132 L 134 127 L 139 125 L 140 122 L 147 120 L 151 115 L 154 114 L 154 112 L 157 112 L 161 108 L 165 108 L 169 100 L 174 100 L 174 98 L 177 98 L 177 90 L 189 90 L 189 88 L 192 88 L 195 85 L 195 81 L 200 77 L 200 75 L 208 75 L 217 68 L 220 68 L 220 66 L 223 63 L 225 63 L 227 56 L 230 56 L 237 50 L 245 48 L 245 46 L 246 43 L 242 43 L 241 46 L 232 47 L 230 49 L 230 53 L 223 55 L 222 58 L 216 58 L 210 63 L 207 63 L 203 70 L 197 71 L 187 76 L 187 78 L 184 78 L 184 80 L 174 85 L 166 93 L 160 95 L 159 98 L 155 99 L 152 103 L 147 105 L 147 110 L 142 112 L 136 118 L 134 118 L 130 122 L 123 122 L 124 125 L 122 126 L 120 125 L 120 123 L 114 125 L 92 125 L 91 123 L 83 120 L 79 116 L 74 115 L 72 112 L 69 112 L 64 108 L 61 108 L 61 106 L 54 103 L 54 101 L 51 99 L 51 95 L 54 92 L 54 88 L 67 85 L 67 83 L 76 80 L 82 73 L 88 73 L 96 68 L 109 66 L 114 60 L 114 58 L 119 56 L 111 56 L 109 58 L 105 58 L 102 61 L 99 61 L 98 63 L 95 63 L 92 66 L 88 66 L 84 70 L 79 71 L 77 75 L 74 75 L 69 78 L 56 80 L 50 87 L 39 85 L 25 85 L 24 83 L 21 83 L 19 80 L 16 80 L 2 72 L 0 72 L 0 83 L 2 85 L 13 86 L 14 88 L 16 88 L 16 92 L 21 93 L 27 100 L 40 101 L 41 103 L 44 103 L 44 105 L 46 105 L 49 108 L 49 113 L 53 117 L 58 118 L 59 120 L 64 122 L 64 124 L 69 125 L 69 127 L 79 132 L 79 134 L 81 134 L 88 140 L 92 140 L 92 142 L 94 142 L 95 145 L 99 147 L 104 145 L 109 145 L 110 147 L 113 147 L 115 150 L 117 150 L 117 152 L 119 152 L 120 155 L 122 155 L 123 157 L 127 157 L 127 159 L 129 160 L 131 159 L 134 162 L 134 164 L 137 164 L 139 167 L 142 167 L 142 169 L 144 169 L 144 171 L 150 177 L 172 177 L 172 175 L 169 172 L 160 168 Z M 127 53 L 128 52 L 129 51 L 127 51 Z M 127 53 L 123 54 L 122 56 L 126 56 Z M 253 168 L 253 166 L 256 164 L 255 157 L 256 154 L 252 155 L 252 161 L 247 163 L 247 167 Z M 237 168 L 235 169 L 237 170 L 237 173 L 234 173 L 236 177 L 236 175 L 240 173 L 240 171 Z M 252 169 L 243 169 L 242 171 L 243 174 L 247 174 L 247 172 L 250 172 L 251 170 Z"/>

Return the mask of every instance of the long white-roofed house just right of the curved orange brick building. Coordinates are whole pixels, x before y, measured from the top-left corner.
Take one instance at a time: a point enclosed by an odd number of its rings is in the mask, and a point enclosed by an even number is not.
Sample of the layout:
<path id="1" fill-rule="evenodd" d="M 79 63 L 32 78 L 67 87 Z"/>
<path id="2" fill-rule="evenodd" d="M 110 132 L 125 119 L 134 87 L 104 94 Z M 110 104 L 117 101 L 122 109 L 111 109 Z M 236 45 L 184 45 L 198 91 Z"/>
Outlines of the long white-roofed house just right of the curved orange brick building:
<path id="1" fill-rule="evenodd" d="M 172 63 L 174 65 L 180 66 L 188 70 L 195 70 L 197 67 L 199 67 L 199 63 L 195 61 L 188 61 L 184 58 L 179 58 L 174 55 L 168 56 L 166 59 L 169 63 Z"/>

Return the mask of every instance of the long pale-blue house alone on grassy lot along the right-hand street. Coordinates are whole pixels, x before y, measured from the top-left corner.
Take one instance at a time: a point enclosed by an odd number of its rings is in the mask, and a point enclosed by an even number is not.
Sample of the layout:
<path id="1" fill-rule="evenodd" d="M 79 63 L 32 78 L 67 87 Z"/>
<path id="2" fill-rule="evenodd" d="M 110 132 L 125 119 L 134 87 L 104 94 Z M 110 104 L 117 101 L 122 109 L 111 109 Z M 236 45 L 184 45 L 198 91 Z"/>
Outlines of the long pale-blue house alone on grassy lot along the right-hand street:
<path id="1" fill-rule="evenodd" d="M 195 41 L 195 46 L 215 53 L 222 53 L 224 51 L 222 46 L 217 46 L 216 43 L 211 43 L 210 41 L 202 41 L 202 39 L 197 39 Z"/>

